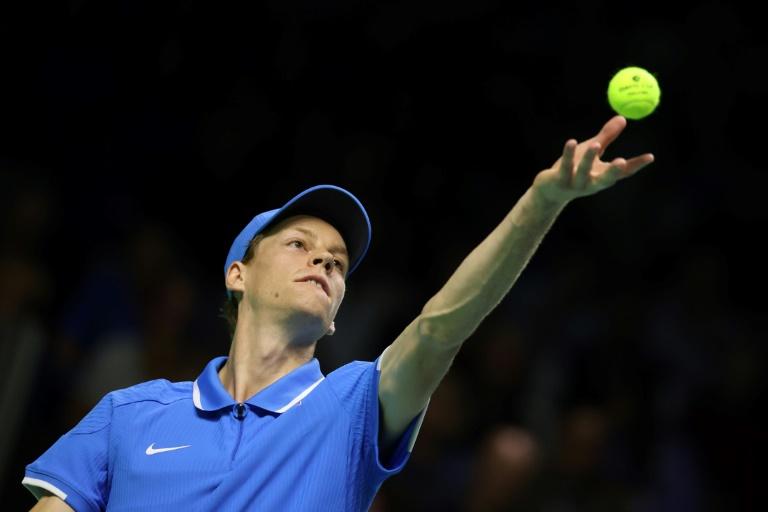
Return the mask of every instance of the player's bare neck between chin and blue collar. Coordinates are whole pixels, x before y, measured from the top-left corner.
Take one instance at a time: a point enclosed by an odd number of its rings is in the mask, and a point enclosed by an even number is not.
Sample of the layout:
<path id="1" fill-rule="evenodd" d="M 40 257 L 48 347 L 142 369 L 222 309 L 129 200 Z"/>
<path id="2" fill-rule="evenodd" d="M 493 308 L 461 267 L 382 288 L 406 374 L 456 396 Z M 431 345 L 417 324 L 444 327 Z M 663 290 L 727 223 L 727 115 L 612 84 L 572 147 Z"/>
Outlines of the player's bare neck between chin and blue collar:
<path id="1" fill-rule="evenodd" d="M 279 325 L 238 321 L 227 363 L 219 379 L 229 394 L 242 403 L 280 377 L 312 359 L 315 345 L 296 345 Z"/>

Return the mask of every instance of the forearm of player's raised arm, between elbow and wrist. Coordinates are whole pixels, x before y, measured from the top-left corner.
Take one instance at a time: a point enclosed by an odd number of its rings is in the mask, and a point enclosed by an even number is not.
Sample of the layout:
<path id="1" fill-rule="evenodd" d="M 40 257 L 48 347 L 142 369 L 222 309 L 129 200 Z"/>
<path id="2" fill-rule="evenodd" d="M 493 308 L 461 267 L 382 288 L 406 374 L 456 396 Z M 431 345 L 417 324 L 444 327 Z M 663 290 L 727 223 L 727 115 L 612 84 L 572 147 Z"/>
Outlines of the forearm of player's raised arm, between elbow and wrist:
<path id="1" fill-rule="evenodd" d="M 424 306 L 422 332 L 449 344 L 468 338 L 512 288 L 566 204 L 529 188 Z"/>

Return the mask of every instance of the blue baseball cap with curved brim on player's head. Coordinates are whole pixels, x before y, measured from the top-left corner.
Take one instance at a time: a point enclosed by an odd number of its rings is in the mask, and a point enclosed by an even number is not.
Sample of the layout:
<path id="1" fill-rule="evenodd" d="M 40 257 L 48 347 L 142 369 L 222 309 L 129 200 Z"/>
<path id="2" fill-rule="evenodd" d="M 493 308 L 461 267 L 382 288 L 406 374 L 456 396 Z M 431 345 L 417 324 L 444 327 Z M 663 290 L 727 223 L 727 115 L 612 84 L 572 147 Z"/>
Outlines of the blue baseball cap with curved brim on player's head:
<path id="1" fill-rule="evenodd" d="M 368 220 L 368 213 L 363 204 L 351 192 L 341 187 L 317 185 L 300 193 L 282 208 L 256 215 L 232 242 L 224 264 L 224 276 L 226 277 L 232 262 L 245 257 L 248 246 L 256 235 L 293 215 L 318 217 L 339 231 L 349 253 L 347 276 L 352 274 L 368 252 L 368 246 L 371 244 L 371 221 Z"/>

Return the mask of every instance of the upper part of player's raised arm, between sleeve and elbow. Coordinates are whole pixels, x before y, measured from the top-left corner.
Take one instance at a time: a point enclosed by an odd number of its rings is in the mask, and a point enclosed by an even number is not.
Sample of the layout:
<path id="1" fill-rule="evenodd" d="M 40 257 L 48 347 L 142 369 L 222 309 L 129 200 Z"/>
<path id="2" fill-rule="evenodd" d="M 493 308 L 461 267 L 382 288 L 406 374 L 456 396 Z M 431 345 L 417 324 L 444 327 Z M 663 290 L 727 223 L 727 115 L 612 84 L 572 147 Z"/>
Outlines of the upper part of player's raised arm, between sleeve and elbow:
<path id="1" fill-rule="evenodd" d="M 421 316 L 411 322 L 381 356 L 379 402 L 385 443 L 399 437 L 426 407 L 461 345 L 425 334 Z"/>

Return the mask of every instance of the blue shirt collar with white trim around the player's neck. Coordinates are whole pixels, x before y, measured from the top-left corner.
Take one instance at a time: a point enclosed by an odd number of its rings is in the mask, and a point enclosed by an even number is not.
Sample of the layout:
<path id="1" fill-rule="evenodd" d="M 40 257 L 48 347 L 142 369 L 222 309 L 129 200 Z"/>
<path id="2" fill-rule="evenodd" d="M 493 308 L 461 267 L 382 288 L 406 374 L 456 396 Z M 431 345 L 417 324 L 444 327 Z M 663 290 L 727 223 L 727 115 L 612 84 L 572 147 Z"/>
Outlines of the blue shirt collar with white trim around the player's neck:
<path id="1" fill-rule="evenodd" d="M 192 385 L 192 401 L 201 411 L 216 411 L 237 403 L 219 379 L 219 370 L 226 361 L 227 356 L 212 359 Z M 282 414 L 311 393 L 324 378 L 320 371 L 320 362 L 317 358 L 312 358 L 245 402 Z"/>

